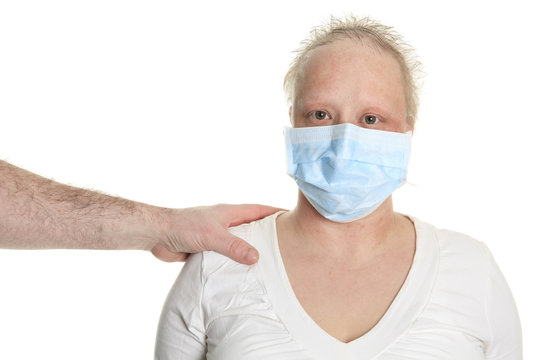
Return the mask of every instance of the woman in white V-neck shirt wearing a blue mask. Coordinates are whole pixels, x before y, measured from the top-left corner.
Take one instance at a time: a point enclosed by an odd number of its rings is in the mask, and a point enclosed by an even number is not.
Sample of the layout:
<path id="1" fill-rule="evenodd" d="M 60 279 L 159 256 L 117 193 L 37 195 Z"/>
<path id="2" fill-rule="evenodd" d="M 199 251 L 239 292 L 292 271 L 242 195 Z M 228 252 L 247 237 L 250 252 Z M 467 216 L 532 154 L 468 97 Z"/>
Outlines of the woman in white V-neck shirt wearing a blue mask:
<path id="1" fill-rule="evenodd" d="M 190 258 L 157 358 L 521 358 L 486 246 L 393 211 L 417 108 L 409 52 L 369 19 L 312 33 L 285 78 L 297 206 L 231 229 L 259 250 L 256 265 Z"/>

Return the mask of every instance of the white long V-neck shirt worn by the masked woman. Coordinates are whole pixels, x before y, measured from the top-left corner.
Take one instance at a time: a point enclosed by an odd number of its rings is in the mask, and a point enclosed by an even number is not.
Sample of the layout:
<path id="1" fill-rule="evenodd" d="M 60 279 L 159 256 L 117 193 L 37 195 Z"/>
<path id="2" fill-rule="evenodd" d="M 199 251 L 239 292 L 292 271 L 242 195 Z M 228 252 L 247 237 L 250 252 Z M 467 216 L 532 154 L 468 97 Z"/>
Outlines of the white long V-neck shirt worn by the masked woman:
<path id="1" fill-rule="evenodd" d="M 512 294 L 483 243 L 413 218 L 416 252 L 403 286 L 369 332 L 343 343 L 296 298 L 277 215 L 231 229 L 259 251 L 255 265 L 214 252 L 190 256 L 163 308 L 156 359 L 522 358 Z"/>

